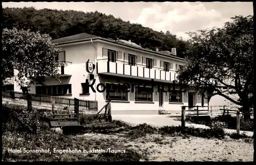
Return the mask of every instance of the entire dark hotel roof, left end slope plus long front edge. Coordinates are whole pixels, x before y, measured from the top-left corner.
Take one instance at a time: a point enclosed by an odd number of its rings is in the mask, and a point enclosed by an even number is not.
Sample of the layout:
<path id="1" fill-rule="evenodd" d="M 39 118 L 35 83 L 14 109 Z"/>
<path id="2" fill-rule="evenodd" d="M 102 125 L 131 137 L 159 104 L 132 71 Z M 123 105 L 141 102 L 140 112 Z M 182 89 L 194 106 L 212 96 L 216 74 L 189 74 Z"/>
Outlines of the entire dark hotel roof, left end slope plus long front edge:
<path id="1" fill-rule="evenodd" d="M 131 45 L 131 44 L 123 43 L 123 42 L 120 42 L 118 40 L 102 38 L 102 37 L 95 36 L 95 35 L 88 34 L 88 33 L 80 33 L 80 34 L 76 34 L 76 35 L 73 35 L 73 36 L 54 39 L 54 40 L 51 40 L 51 41 L 52 41 L 52 43 L 55 43 L 57 45 L 62 45 L 62 44 L 68 44 L 68 43 L 78 43 L 78 42 L 89 41 L 89 40 L 97 40 L 97 39 L 112 42 L 112 43 L 116 43 L 116 44 L 120 44 L 120 45 L 124 45 L 124 46 L 130 47 L 130 48 L 138 49 L 138 50 L 145 51 L 145 52 L 155 53 L 155 54 L 165 56 L 165 57 L 172 57 L 172 58 L 184 61 L 184 58 L 180 58 L 180 57 L 177 57 L 177 56 L 172 55 L 172 54 L 167 55 L 165 53 L 156 52 L 156 51 L 153 51 L 153 50 L 150 50 L 150 49 L 147 49 L 147 48 L 141 48 L 139 46 L 134 46 L 134 45 Z"/>

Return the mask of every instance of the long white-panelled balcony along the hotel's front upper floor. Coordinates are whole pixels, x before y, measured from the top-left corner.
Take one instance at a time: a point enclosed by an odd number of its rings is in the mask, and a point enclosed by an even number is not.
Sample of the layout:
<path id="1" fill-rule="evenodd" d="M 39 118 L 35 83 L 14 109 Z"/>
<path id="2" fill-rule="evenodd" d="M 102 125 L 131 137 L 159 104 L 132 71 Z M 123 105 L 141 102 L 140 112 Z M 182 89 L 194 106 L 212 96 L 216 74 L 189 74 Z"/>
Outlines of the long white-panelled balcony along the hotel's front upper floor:
<path id="1" fill-rule="evenodd" d="M 113 75 L 127 78 L 154 79 L 155 81 L 168 82 L 177 80 L 175 70 L 166 72 L 163 68 L 152 67 L 146 68 L 145 65 L 129 65 L 127 62 L 118 61 L 109 62 L 108 59 L 97 60 L 98 74 Z"/>

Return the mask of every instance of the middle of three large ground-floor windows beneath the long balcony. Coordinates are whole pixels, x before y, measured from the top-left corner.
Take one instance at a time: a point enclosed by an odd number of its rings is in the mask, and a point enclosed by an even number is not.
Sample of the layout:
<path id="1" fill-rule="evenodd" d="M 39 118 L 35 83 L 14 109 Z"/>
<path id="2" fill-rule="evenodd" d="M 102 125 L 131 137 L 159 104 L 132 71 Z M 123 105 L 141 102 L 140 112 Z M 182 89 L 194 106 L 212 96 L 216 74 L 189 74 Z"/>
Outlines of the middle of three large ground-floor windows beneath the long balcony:
<path id="1" fill-rule="evenodd" d="M 135 87 L 135 101 L 148 101 L 152 102 L 153 101 L 153 95 L 152 93 L 154 91 L 151 91 L 151 87 Z"/>

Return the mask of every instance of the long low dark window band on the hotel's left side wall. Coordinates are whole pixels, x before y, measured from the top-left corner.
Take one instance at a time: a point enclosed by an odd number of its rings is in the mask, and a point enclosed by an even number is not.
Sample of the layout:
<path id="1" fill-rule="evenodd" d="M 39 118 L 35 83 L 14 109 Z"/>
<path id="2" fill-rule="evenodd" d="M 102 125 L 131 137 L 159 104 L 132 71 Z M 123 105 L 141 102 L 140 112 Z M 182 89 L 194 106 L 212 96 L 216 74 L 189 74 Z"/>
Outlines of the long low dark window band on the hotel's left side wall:
<path id="1" fill-rule="evenodd" d="M 36 86 L 35 93 L 38 95 L 68 95 L 72 93 L 71 84 Z"/>

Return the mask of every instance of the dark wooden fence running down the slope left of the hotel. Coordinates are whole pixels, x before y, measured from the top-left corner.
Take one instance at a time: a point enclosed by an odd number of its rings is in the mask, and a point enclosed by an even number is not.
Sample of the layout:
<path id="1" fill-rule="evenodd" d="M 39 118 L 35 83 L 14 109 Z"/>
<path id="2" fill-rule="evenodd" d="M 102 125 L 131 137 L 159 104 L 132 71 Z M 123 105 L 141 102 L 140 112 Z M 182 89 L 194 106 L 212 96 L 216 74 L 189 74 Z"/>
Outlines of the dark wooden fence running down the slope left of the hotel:
<path id="1" fill-rule="evenodd" d="M 31 101 L 39 102 L 39 103 L 49 103 L 51 104 L 52 101 L 55 101 L 55 104 L 61 104 L 66 106 L 74 106 L 75 99 L 74 98 L 63 98 L 63 97 L 54 97 L 49 95 L 37 95 L 33 93 L 29 93 L 31 97 Z M 27 95 L 23 92 L 18 91 L 2 91 L 3 98 L 11 98 L 11 99 L 22 99 L 27 100 Z M 80 100 L 79 99 L 79 107 L 88 108 L 88 109 L 97 109 L 98 102 L 97 101 L 90 101 L 90 100 Z"/>

